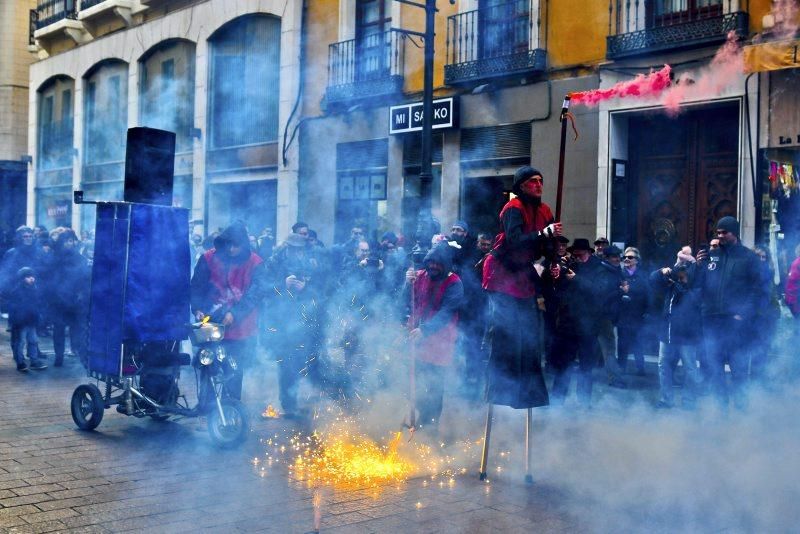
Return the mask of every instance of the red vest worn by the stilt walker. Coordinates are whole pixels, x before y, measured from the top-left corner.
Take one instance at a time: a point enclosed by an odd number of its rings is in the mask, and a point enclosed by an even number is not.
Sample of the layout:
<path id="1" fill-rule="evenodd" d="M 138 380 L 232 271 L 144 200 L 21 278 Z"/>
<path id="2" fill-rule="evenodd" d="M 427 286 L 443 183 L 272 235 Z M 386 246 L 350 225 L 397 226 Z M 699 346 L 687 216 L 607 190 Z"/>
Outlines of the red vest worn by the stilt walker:
<path id="1" fill-rule="evenodd" d="M 553 222 L 550 206 L 540 203 L 533 206 L 513 198 L 500 211 L 500 222 L 508 210 L 519 210 L 522 213 L 523 235 L 535 234 Z M 483 288 L 487 291 L 505 293 L 512 297 L 524 299 L 536 296 L 531 273 L 536 251 L 533 247 L 514 249 L 509 246 L 505 232 L 495 238 L 492 253 L 483 264 Z"/>

